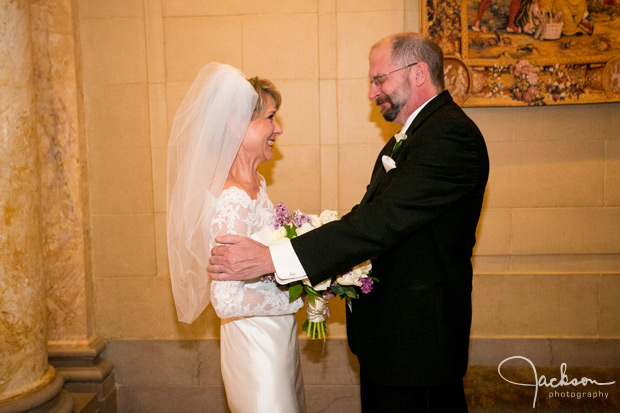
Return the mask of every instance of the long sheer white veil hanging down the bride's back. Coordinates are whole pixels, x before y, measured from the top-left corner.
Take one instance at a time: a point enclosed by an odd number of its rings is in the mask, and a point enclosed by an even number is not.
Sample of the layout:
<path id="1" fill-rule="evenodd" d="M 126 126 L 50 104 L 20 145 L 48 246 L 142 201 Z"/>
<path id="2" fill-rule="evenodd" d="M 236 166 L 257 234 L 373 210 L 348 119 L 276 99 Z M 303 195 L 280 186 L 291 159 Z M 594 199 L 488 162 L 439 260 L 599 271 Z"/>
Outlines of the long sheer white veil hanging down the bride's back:
<path id="1" fill-rule="evenodd" d="M 209 305 L 211 221 L 250 123 L 257 93 L 234 67 L 209 63 L 174 116 L 168 143 L 166 230 L 179 321 Z"/>

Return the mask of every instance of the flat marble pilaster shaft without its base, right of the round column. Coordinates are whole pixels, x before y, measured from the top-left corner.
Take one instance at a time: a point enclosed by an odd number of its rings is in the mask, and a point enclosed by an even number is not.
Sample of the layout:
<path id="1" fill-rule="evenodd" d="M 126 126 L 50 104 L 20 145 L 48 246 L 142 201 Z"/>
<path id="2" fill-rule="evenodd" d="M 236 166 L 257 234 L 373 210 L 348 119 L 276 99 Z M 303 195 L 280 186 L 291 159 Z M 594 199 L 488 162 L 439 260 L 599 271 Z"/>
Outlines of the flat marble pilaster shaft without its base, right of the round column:
<path id="1" fill-rule="evenodd" d="M 52 346 L 87 345 L 93 331 L 71 0 L 30 0 L 41 176 L 43 268 Z M 83 176 L 84 175 L 84 176 Z"/>

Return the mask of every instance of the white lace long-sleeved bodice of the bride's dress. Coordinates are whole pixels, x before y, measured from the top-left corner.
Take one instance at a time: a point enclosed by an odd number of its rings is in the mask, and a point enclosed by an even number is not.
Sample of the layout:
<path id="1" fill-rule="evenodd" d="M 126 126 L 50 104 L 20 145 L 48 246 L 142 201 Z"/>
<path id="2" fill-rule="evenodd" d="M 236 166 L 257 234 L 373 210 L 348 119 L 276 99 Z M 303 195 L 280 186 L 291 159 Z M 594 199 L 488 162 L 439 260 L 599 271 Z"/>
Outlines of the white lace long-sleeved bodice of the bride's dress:
<path id="1" fill-rule="evenodd" d="M 230 187 L 220 195 L 211 223 L 212 239 L 237 234 L 268 244 L 274 232 L 275 210 L 261 181 L 255 200 L 242 189 Z M 213 243 L 213 241 L 211 241 Z M 220 318 L 293 314 L 303 306 L 289 303 L 288 290 L 269 277 L 248 281 L 213 281 L 211 304 Z"/>

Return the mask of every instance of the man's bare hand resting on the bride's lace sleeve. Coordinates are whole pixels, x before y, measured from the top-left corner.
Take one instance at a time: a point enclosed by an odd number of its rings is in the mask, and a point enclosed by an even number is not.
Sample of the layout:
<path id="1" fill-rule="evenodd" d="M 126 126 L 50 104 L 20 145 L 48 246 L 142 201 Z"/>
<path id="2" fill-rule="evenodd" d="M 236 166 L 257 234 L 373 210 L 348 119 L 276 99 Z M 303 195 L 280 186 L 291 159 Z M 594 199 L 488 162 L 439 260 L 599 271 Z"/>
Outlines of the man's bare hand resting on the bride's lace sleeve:
<path id="1" fill-rule="evenodd" d="M 269 247 L 239 235 L 216 237 L 207 265 L 209 277 L 218 281 L 250 280 L 275 272 Z"/>

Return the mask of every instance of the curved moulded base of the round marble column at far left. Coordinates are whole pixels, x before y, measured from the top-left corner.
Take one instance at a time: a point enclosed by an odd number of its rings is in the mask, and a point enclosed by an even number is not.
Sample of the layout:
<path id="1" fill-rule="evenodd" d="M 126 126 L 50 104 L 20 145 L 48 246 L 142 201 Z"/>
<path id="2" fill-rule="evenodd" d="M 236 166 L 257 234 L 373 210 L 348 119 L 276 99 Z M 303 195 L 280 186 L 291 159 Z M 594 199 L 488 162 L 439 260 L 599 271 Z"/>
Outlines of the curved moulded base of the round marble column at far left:
<path id="1" fill-rule="evenodd" d="M 0 413 L 72 413 L 73 399 L 62 388 L 62 375 L 50 366 L 46 376 L 49 380 L 42 387 L 0 403 Z"/>

